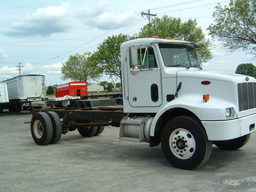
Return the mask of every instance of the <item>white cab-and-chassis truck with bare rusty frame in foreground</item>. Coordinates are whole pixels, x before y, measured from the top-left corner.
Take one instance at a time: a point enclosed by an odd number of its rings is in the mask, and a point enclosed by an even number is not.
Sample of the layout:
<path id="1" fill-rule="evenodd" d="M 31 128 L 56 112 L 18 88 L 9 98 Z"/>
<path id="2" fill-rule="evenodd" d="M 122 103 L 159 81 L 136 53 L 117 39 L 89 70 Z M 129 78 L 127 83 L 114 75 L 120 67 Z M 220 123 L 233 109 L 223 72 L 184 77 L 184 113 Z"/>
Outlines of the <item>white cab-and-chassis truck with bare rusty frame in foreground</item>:
<path id="1" fill-rule="evenodd" d="M 34 110 L 34 141 L 45 145 L 68 131 L 77 129 L 88 137 L 102 132 L 102 126 L 120 126 L 120 140 L 148 142 L 150 147 L 161 142 L 166 159 L 188 170 L 208 160 L 212 144 L 226 150 L 243 147 L 255 131 L 256 80 L 202 70 L 196 47 L 177 38 L 124 42 L 123 110 Z"/>

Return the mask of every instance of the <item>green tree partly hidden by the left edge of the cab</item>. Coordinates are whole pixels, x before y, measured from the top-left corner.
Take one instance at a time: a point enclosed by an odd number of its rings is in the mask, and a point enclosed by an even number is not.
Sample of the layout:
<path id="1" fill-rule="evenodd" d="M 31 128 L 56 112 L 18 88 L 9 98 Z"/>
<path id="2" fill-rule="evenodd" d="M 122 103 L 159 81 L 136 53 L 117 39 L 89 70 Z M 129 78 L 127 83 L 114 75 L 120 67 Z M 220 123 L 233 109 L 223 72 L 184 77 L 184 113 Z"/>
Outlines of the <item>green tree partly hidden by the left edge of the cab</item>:
<path id="1" fill-rule="evenodd" d="M 121 79 L 120 45 L 133 37 L 119 34 L 109 36 L 97 47 L 92 59 L 99 64 L 106 75 L 116 76 Z"/>

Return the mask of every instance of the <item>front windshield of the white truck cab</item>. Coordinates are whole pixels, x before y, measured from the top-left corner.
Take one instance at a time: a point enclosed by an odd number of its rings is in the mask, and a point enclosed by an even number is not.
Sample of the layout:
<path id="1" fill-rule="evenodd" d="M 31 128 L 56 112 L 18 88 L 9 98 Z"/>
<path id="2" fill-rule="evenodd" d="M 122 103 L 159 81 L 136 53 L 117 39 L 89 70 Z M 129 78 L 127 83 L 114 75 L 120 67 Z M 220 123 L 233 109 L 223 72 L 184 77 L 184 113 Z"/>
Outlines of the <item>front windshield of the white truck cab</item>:
<path id="1" fill-rule="evenodd" d="M 196 50 L 182 44 L 159 44 L 165 67 L 196 67 L 199 62 Z"/>

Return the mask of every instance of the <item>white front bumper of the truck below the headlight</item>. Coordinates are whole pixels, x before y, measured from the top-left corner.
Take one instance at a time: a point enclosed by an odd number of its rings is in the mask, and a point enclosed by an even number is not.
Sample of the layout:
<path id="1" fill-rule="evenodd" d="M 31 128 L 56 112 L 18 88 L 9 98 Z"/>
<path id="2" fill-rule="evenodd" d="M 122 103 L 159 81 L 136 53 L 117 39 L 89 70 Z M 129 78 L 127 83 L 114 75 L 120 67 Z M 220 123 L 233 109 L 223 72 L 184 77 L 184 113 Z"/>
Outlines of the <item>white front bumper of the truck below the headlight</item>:
<path id="1" fill-rule="evenodd" d="M 256 114 L 226 121 L 201 121 L 208 140 L 230 140 L 255 131 Z"/>

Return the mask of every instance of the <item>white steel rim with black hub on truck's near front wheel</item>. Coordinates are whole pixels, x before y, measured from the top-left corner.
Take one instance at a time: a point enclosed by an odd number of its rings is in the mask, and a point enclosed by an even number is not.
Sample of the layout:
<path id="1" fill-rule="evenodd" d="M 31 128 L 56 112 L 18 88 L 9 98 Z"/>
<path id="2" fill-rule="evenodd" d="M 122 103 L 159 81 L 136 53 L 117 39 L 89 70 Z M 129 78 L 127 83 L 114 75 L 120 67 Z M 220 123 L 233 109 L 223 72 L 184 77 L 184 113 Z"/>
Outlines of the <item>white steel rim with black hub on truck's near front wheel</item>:
<path id="1" fill-rule="evenodd" d="M 174 130 L 170 136 L 169 145 L 172 153 L 180 159 L 193 156 L 196 149 L 195 138 L 186 129 Z"/>

